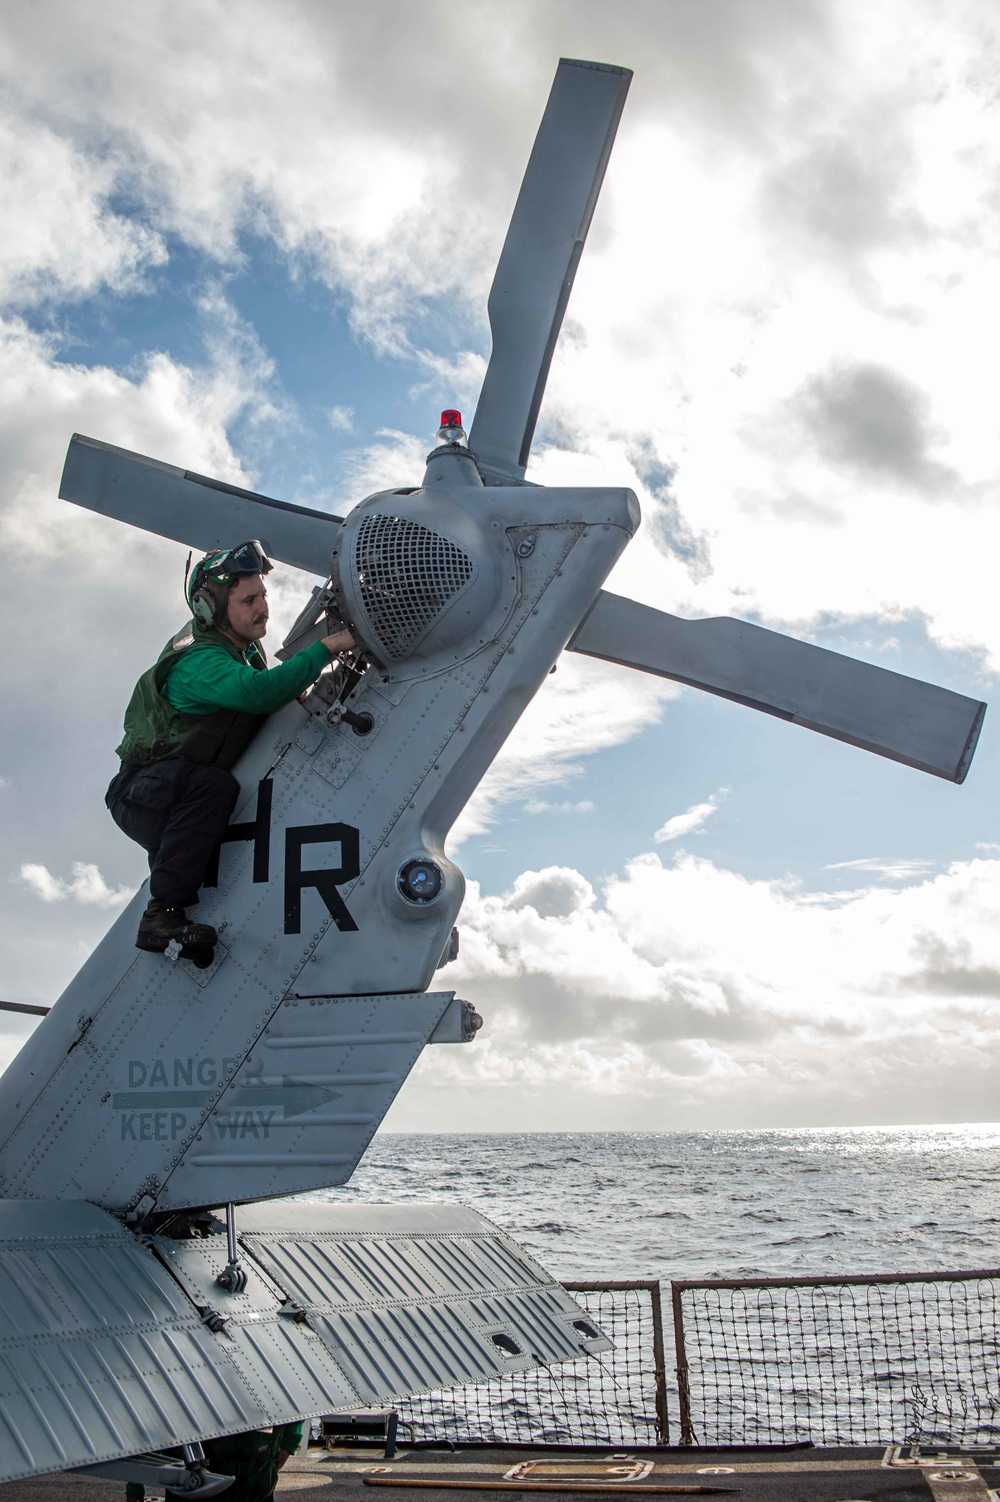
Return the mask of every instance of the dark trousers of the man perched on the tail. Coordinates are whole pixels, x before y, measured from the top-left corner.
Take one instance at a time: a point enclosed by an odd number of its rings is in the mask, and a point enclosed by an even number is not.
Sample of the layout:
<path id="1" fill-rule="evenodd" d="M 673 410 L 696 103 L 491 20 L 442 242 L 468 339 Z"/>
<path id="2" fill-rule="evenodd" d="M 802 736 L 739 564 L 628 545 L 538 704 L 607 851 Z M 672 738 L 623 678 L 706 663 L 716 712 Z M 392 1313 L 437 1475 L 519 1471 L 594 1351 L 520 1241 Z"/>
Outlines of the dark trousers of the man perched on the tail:
<path id="1" fill-rule="evenodd" d="M 153 901 L 168 907 L 198 901 L 239 790 L 231 772 L 186 756 L 150 766 L 122 765 L 104 801 L 119 829 L 149 853 Z"/>

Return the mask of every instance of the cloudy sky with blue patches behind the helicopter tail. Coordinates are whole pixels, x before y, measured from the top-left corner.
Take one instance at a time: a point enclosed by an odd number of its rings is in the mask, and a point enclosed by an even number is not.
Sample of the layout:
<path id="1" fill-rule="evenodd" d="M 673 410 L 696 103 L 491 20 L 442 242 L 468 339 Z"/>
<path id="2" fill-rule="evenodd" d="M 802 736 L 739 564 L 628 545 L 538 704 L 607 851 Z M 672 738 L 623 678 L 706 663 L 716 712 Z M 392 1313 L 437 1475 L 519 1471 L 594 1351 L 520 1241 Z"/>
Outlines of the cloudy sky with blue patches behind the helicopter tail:
<path id="1" fill-rule="evenodd" d="M 634 487 L 620 593 L 1000 697 L 989 0 L 14 0 L 8 1000 L 144 874 L 102 792 L 183 619 L 185 550 L 56 500 L 71 433 L 338 514 L 419 482 L 560 54 L 635 80 L 529 478 Z M 452 838 L 486 1027 L 390 1123 L 995 1119 L 998 725 L 956 789 L 565 659 Z"/>

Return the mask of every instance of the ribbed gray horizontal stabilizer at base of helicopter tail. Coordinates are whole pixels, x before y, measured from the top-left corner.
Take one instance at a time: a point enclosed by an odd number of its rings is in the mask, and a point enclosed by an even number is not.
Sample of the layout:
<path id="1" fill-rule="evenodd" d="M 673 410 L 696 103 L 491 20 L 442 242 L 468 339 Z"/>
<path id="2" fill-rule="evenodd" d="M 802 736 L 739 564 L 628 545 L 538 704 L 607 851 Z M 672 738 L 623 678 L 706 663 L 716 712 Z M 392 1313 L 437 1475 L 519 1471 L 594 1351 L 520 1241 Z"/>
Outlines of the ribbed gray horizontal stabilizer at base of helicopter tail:
<path id="1" fill-rule="evenodd" d="M 237 1230 L 227 1293 L 221 1224 L 144 1242 L 93 1205 L 0 1200 L 0 1481 L 610 1349 L 459 1206 L 257 1205 Z"/>

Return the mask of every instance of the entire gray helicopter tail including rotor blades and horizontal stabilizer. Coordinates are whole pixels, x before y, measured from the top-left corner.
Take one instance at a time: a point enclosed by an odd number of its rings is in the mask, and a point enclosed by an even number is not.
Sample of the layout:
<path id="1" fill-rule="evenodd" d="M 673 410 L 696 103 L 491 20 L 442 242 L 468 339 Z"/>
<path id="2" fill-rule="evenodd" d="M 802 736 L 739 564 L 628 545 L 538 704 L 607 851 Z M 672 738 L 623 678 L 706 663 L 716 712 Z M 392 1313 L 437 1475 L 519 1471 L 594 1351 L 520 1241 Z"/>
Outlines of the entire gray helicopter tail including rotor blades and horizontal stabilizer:
<path id="1" fill-rule="evenodd" d="M 965 775 L 982 704 L 743 622 L 680 622 L 608 595 L 638 526 L 632 493 L 524 481 L 629 78 L 559 66 L 489 297 L 479 463 L 443 445 L 419 485 L 341 521 L 71 443 L 66 500 L 206 550 L 258 538 L 330 581 L 366 668 L 347 703 L 320 685 L 272 715 L 240 760 L 198 912 L 221 934 L 213 964 L 134 948 L 144 886 L 0 1080 L 5 1479 L 281 1422 L 351 1391 L 371 1403 L 491 1377 L 508 1370 L 494 1334 L 511 1334 L 521 1367 L 604 1349 L 517 1247 L 470 1257 L 470 1236 L 495 1233 L 468 1212 L 249 1211 L 242 1289 L 218 1283 L 218 1235 L 156 1235 L 191 1208 L 342 1184 L 423 1045 L 471 1039 L 471 1008 L 428 990 L 464 891 L 444 841 L 566 646 Z M 414 859 L 440 873 L 432 901 L 401 891 Z M 345 1235 L 378 1245 L 384 1287 L 362 1278 L 344 1298 Z M 468 1298 L 447 1292 L 456 1269 Z M 51 1310 L 33 1292 L 44 1284 Z M 378 1341 L 363 1334 L 371 1310 Z M 444 1368 L 432 1350 L 450 1352 Z M 378 1376 L 386 1359 L 393 1382 Z M 275 1362 L 287 1382 L 267 1377 Z"/>

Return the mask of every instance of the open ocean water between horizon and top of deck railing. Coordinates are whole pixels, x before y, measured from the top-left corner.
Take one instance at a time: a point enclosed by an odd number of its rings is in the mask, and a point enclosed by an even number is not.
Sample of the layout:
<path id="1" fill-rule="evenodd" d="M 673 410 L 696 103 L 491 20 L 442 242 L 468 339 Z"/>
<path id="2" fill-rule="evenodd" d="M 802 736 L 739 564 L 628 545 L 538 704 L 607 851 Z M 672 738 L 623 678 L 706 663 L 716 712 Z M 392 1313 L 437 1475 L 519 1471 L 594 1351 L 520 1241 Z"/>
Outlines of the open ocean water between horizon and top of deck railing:
<path id="1" fill-rule="evenodd" d="M 1000 1123 L 381 1134 L 326 1200 L 440 1200 L 563 1278 L 1000 1266 Z"/>

